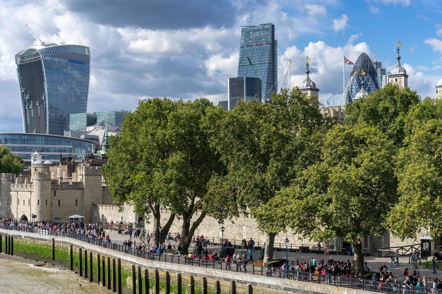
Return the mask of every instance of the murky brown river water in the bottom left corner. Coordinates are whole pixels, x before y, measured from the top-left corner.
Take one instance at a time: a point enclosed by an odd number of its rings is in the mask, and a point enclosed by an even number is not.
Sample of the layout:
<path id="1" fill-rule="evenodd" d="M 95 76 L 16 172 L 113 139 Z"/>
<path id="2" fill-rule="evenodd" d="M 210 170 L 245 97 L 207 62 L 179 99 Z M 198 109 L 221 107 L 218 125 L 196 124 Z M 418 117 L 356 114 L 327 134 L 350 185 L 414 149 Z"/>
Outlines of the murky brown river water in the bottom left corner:
<path id="1" fill-rule="evenodd" d="M 107 290 L 107 287 L 80 279 L 71 271 L 39 268 L 32 264 L 0 260 L 0 293 L 90 294 L 112 292 Z"/>

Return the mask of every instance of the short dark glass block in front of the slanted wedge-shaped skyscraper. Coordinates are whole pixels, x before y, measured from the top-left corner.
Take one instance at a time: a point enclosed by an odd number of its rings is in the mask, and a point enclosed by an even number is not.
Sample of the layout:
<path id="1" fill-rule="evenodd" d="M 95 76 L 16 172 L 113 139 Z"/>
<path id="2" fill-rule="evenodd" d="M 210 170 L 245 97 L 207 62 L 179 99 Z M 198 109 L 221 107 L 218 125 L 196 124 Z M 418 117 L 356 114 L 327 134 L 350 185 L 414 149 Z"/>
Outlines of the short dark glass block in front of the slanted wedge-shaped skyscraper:
<path id="1" fill-rule="evenodd" d="M 228 78 L 227 109 L 233 110 L 240 100 L 261 101 L 262 83 L 260 78 Z"/>

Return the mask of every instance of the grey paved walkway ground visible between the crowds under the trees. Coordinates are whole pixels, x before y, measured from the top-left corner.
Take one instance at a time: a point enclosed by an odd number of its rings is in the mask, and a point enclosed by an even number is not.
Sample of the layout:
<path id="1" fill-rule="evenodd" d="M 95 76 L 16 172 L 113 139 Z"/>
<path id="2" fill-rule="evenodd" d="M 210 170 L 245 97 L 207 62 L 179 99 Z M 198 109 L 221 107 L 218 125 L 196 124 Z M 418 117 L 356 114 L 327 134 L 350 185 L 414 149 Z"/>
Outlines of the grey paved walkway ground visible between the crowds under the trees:
<path id="1" fill-rule="evenodd" d="M 106 234 L 109 234 L 110 239 L 112 242 L 117 242 L 119 244 L 122 244 L 124 240 L 128 240 L 128 235 L 121 235 L 117 234 L 113 231 L 106 231 Z M 132 238 L 132 241 L 139 242 L 138 238 Z M 166 242 L 166 245 L 168 242 Z M 152 243 L 151 243 L 152 245 Z M 171 241 L 171 245 L 173 245 L 173 241 Z M 191 244 L 189 249 L 193 250 L 194 243 Z M 207 246 L 209 250 L 220 250 L 220 246 Z M 240 249 L 236 249 L 235 253 L 241 253 Z M 254 261 L 258 261 L 259 257 L 259 249 L 255 251 L 255 254 L 253 255 Z M 291 264 L 291 261 L 293 261 L 294 264 L 297 264 L 298 262 L 309 262 L 312 258 L 315 258 L 316 261 L 324 259 L 327 261 L 330 257 L 333 258 L 334 261 L 347 261 L 349 259 L 350 261 L 353 261 L 353 256 L 347 255 L 336 255 L 336 254 L 328 254 L 328 255 L 318 255 L 316 253 L 297 253 L 297 252 L 289 252 L 288 258 L 289 258 L 289 264 Z M 285 251 L 274 251 L 274 258 L 286 258 L 286 252 Z M 405 277 L 403 275 L 405 268 L 408 268 L 410 272 L 413 272 L 412 264 L 409 264 L 409 258 L 408 256 L 400 257 L 399 259 L 399 266 L 390 266 L 390 258 L 389 257 L 373 257 L 373 256 L 366 256 L 364 257 L 364 261 L 367 262 L 368 267 L 373 272 L 378 272 L 381 265 L 386 265 L 388 267 L 388 271 L 392 272 L 392 275 L 400 282 L 404 282 Z M 442 269 L 438 270 L 438 274 L 434 275 L 432 274 L 433 269 L 432 268 L 424 268 L 424 267 L 418 267 L 416 272 L 419 271 L 421 278 L 426 275 L 429 282 L 431 282 L 434 278 L 442 278 Z"/>

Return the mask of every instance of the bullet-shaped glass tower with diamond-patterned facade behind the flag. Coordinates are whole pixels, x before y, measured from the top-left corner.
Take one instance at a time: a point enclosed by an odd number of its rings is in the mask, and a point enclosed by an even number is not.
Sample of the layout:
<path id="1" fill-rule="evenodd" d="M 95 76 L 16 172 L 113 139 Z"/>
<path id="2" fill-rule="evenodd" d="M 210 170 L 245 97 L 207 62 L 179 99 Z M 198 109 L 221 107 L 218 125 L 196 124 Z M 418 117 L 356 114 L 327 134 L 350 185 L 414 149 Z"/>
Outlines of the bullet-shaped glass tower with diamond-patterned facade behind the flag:
<path id="1" fill-rule="evenodd" d="M 362 76 L 364 78 L 364 88 L 368 93 L 375 92 L 379 89 L 378 78 L 376 68 L 373 66 L 373 62 L 368 57 L 367 53 L 361 53 L 358 60 L 356 60 L 356 65 L 350 73 L 350 80 L 346 87 L 345 93 L 345 103 L 352 103 L 354 97 L 361 89 L 361 71 L 365 71 L 366 75 Z"/>

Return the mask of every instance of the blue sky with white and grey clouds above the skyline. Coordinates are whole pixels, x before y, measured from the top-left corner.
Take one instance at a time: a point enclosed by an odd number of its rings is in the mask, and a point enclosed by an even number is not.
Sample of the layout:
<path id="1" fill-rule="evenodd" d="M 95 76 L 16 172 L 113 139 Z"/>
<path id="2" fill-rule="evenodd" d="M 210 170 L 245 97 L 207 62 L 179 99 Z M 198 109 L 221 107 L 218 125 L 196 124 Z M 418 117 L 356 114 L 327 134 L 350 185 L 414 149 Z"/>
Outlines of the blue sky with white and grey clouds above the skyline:
<path id="1" fill-rule="evenodd" d="M 227 100 L 241 26 L 269 22 L 279 78 L 291 59 L 291 83 L 299 85 L 308 55 L 324 104 L 333 104 L 342 86 L 344 54 L 355 62 L 376 51 L 389 72 L 397 39 L 408 85 L 434 97 L 442 78 L 441 19 L 440 0 L 0 0 L 0 132 L 23 132 L 14 56 L 39 44 L 26 23 L 46 43 L 91 48 L 88 112 L 95 112 L 133 111 L 152 97 Z"/>

